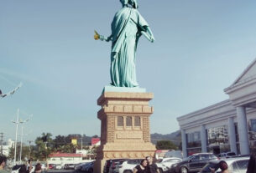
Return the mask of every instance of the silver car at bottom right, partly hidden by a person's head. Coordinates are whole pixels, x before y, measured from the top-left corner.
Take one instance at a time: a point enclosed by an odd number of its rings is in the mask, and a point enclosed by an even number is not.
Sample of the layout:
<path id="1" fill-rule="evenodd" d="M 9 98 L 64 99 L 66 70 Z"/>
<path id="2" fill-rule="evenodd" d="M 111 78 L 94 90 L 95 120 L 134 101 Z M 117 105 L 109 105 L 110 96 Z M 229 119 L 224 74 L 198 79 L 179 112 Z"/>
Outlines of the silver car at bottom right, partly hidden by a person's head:
<path id="1" fill-rule="evenodd" d="M 227 162 L 228 170 L 232 173 L 246 173 L 247 167 L 248 167 L 248 160 L 249 157 L 234 157 L 234 158 L 228 158 L 223 159 Z M 207 163 L 199 173 L 211 173 L 210 167 L 214 168 L 217 172 L 221 171 L 219 169 L 219 160 L 212 160 L 209 163 Z"/>

